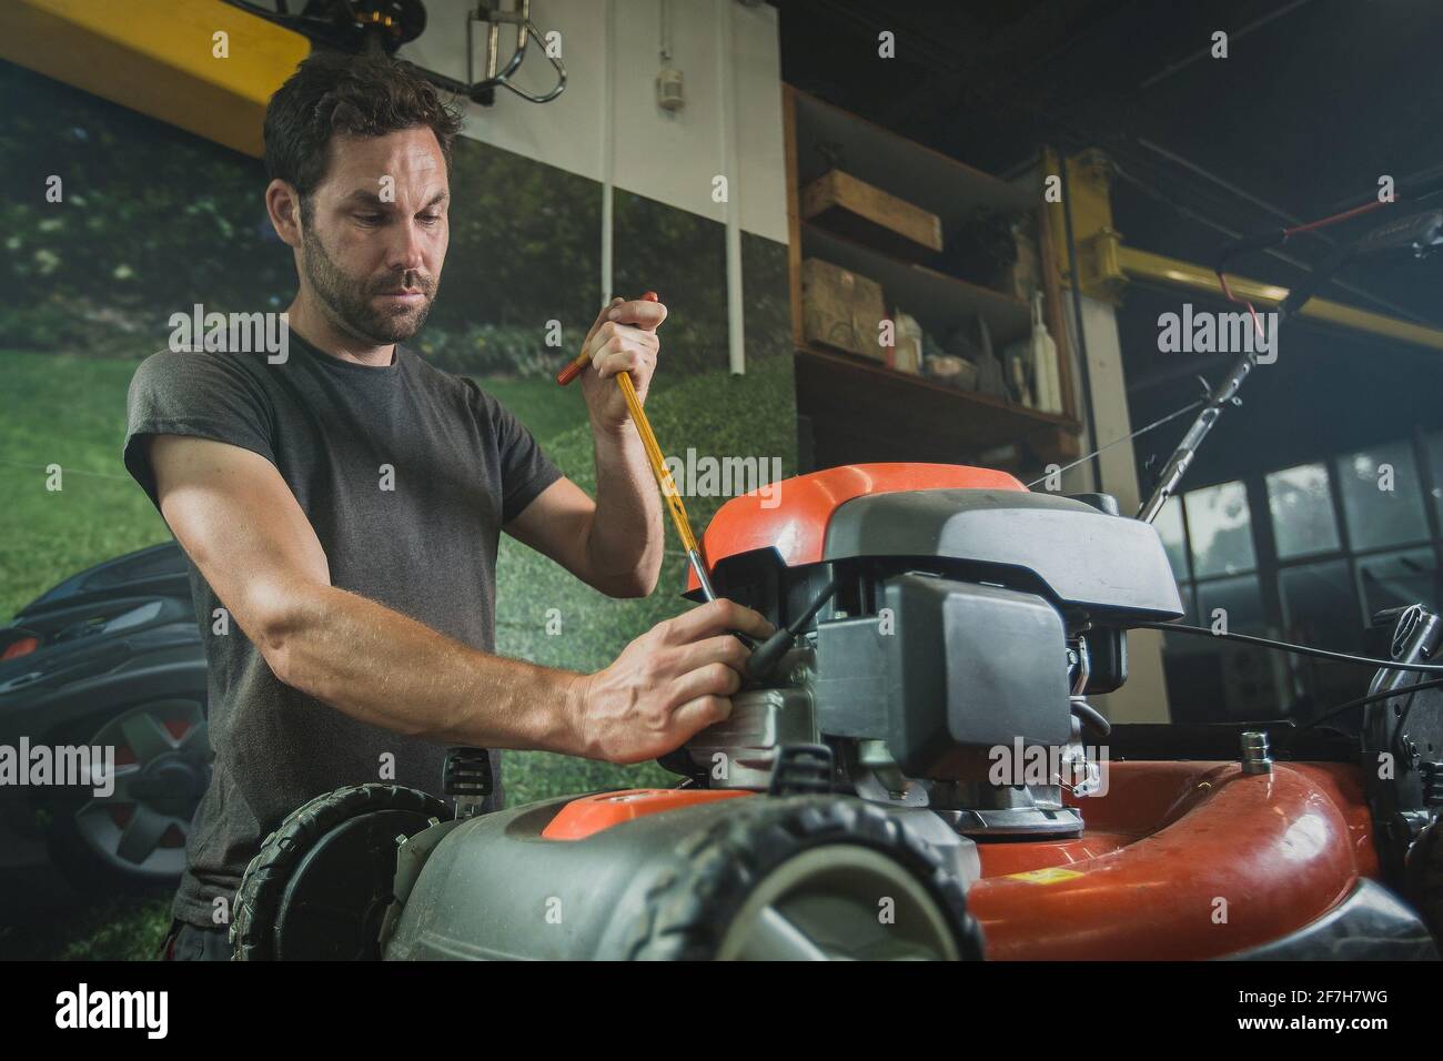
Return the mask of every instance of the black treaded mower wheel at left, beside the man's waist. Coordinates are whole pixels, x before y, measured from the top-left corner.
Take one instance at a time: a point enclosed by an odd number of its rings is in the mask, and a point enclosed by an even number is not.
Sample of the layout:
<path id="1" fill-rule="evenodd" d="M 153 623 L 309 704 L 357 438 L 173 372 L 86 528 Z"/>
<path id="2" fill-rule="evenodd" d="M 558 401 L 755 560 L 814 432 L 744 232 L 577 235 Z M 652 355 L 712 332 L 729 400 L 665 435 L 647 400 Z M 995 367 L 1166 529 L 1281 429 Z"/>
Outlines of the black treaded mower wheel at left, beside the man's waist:
<path id="1" fill-rule="evenodd" d="M 394 899 L 394 839 L 414 836 L 431 818 L 450 818 L 443 800 L 417 788 L 374 782 L 338 788 L 297 807 L 266 837 L 241 878 L 231 921 L 234 960 L 380 959 L 374 930 L 380 928 L 380 918 Z M 365 833 L 359 844 L 365 852 L 361 860 L 356 860 L 356 844 L 351 843 L 332 857 L 332 863 L 342 859 L 349 865 L 342 862 L 339 878 L 328 876 L 328 885 L 333 885 L 328 886 L 332 911 L 325 917 L 335 921 L 335 937 L 316 938 L 315 927 L 309 927 L 300 946 L 283 946 L 284 924 L 307 917 L 293 909 L 303 875 L 333 873 L 336 866 L 325 862 L 326 844 L 335 847 L 342 831 L 356 829 Z"/>

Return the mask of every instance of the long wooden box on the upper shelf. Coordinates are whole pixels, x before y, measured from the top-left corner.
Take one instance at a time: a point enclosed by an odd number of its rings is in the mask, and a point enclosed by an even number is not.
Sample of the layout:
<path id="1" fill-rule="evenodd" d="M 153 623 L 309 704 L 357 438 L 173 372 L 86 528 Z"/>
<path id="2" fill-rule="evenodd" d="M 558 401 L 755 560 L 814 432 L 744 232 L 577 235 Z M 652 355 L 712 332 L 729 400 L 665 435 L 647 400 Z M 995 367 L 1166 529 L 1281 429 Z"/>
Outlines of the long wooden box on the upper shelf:
<path id="1" fill-rule="evenodd" d="M 922 260 L 942 250 L 942 219 L 937 214 L 840 169 L 802 188 L 801 199 L 804 219 L 886 254 Z"/>

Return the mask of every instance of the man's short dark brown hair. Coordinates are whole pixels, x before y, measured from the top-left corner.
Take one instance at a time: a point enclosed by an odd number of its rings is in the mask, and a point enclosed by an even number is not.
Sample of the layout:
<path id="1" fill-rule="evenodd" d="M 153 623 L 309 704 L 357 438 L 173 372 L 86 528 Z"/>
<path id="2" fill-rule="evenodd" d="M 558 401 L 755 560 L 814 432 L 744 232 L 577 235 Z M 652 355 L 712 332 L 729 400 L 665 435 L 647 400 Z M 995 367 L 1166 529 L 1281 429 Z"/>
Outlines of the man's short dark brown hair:
<path id="1" fill-rule="evenodd" d="M 309 222 L 309 196 L 326 176 L 332 134 L 385 136 L 420 126 L 436 133 L 449 175 L 452 140 L 462 128 L 456 104 L 443 101 L 408 62 L 315 52 L 266 105 L 266 172 L 296 189 Z"/>

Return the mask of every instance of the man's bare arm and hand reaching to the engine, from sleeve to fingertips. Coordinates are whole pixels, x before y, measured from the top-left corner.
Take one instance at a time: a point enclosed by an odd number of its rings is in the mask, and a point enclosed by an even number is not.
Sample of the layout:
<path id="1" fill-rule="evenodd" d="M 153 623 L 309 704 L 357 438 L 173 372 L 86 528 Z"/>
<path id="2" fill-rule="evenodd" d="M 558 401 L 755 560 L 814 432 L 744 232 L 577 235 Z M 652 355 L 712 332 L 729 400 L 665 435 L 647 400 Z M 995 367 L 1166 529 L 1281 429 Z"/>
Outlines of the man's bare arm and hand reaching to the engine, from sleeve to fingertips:
<path id="1" fill-rule="evenodd" d="M 276 676 L 385 729 L 639 762 L 730 712 L 742 658 L 724 631 L 769 631 L 756 612 L 714 602 L 596 674 L 491 655 L 332 586 L 315 530 L 260 455 L 162 435 L 150 460 L 166 523 Z"/>

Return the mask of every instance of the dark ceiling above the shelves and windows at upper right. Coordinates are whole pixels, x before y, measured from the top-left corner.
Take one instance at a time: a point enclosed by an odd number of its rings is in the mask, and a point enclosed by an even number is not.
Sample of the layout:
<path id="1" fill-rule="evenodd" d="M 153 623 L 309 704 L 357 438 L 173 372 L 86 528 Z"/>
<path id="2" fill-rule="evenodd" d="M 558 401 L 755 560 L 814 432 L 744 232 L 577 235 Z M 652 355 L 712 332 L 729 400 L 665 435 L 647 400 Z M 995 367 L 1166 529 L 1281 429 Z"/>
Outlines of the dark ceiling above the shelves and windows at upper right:
<path id="1" fill-rule="evenodd" d="M 1443 165 L 1437 0 L 775 6 L 789 84 L 996 173 L 1026 166 L 1043 144 L 1101 147 L 1120 173 L 1113 205 L 1126 243 L 1176 257 L 1208 263 L 1229 234 L 1313 219 L 1374 195 L 1380 175 L 1403 183 Z M 883 29 L 896 35 L 895 59 L 877 56 Z M 1227 59 L 1209 55 L 1219 29 Z M 1316 264 L 1335 238 L 1371 224 L 1297 237 L 1281 254 Z M 1281 284 L 1304 276 L 1268 256 L 1235 268 Z M 1323 294 L 1443 322 L 1443 256 L 1374 258 L 1341 280 Z M 1189 401 L 1192 375 L 1218 368 L 1157 352 L 1157 315 L 1182 300 L 1134 287 L 1118 315 L 1134 426 Z M 1289 325 L 1280 346 L 1277 371 L 1255 374 L 1192 485 L 1443 427 L 1443 354 L 1307 323 Z M 1169 430 L 1140 459 L 1166 450 Z"/>

